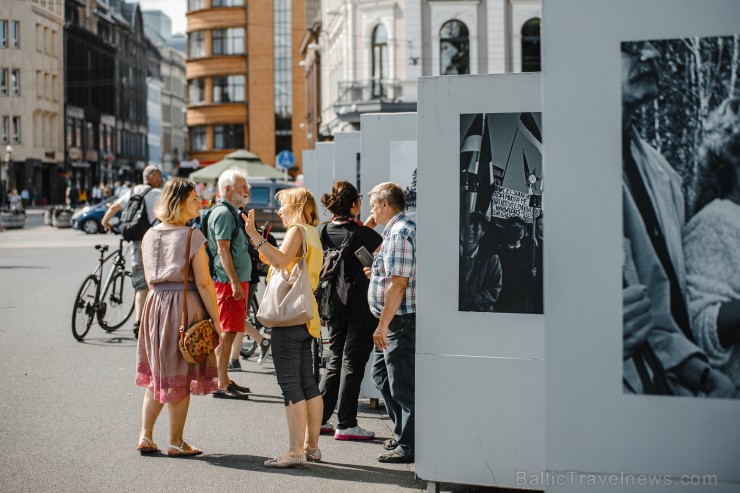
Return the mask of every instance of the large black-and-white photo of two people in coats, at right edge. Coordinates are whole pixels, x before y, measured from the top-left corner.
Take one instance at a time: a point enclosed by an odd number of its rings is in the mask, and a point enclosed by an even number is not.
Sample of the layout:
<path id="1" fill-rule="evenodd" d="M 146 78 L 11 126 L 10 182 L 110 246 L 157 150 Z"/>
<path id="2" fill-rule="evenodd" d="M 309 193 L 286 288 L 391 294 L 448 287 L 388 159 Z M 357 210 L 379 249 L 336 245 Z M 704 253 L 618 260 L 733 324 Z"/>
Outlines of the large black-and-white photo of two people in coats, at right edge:
<path id="1" fill-rule="evenodd" d="M 625 394 L 740 393 L 740 35 L 620 45 Z"/>

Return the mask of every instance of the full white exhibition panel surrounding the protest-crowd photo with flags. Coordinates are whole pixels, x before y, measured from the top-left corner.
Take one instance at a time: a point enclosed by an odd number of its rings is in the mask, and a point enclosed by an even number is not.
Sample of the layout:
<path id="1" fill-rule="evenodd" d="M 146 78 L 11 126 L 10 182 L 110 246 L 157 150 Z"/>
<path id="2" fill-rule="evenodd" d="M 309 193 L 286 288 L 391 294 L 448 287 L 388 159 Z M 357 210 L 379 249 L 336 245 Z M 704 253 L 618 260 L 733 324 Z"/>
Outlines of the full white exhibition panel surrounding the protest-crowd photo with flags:
<path id="1" fill-rule="evenodd" d="M 541 78 L 425 77 L 418 108 L 416 472 L 515 487 L 545 467 L 544 316 L 458 311 L 460 115 L 540 112 Z"/>

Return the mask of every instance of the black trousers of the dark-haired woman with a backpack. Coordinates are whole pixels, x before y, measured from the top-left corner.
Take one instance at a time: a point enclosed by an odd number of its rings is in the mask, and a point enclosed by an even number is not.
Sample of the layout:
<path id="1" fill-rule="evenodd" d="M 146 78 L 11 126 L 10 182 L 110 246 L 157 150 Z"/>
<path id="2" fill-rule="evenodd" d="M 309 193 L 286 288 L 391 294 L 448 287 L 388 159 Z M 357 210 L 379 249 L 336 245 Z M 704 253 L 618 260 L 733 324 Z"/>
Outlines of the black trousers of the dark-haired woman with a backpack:
<path id="1" fill-rule="evenodd" d="M 337 409 L 337 428 L 357 426 L 357 400 L 365 376 L 365 365 L 373 349 L 373 332 L 378 319 L 367 306 L 367 295 L 354 297 L 345 314 L 328 322 L 329 357 L 319 383 L 324 398 L 322 423 L 329 421 Z"/>

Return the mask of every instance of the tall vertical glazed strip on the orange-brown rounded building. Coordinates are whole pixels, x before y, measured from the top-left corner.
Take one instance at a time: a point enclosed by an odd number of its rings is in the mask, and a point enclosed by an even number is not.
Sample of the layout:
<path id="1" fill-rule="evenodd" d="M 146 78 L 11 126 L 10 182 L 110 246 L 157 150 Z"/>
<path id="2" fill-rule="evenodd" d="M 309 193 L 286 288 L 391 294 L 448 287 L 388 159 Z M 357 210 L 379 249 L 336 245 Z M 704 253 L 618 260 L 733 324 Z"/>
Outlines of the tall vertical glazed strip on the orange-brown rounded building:
<path id="1" fill-rule="evenodd" d="M 290 0 L 274 0 L 275 154 L 293 149 L 293 53 Z"/>

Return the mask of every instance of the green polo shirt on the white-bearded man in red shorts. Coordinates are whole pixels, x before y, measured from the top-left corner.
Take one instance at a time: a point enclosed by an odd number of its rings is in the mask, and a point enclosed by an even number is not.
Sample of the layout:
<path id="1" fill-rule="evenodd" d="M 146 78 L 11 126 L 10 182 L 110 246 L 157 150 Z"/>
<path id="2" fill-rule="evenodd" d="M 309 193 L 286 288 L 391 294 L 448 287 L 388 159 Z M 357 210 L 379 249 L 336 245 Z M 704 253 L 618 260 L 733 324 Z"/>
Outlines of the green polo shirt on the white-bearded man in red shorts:
<path id="1" fill-rule="evenodd" d="M 213 266 L 216 271 L 215 279 L 220 282 L 231 282 L 226 275 L 221 257 L 218 255 L 217 240 L 229 240 L 234 234 L 234 229 L 239 225 L 236 223 L 234 214 L 236 209 L 226 200 L 219 200 L 218 204 L 213 206 L 211 214 L 208 216 L 208 248 L 213 255 Z M 231 259 L 234 262 L 236 275 L 239 276 L 239 282 L 249 282 L 252 277 L 252 259 L 249 256 L 249 245 L 247 244 L 247 235 L 242 231 L 231 241 Z"/>

